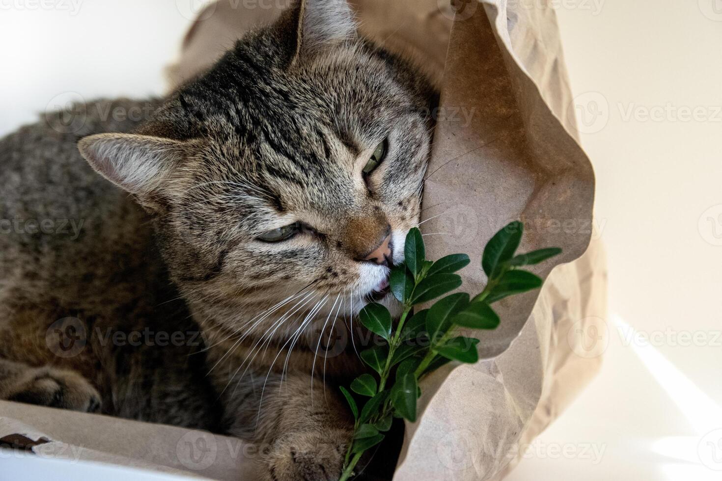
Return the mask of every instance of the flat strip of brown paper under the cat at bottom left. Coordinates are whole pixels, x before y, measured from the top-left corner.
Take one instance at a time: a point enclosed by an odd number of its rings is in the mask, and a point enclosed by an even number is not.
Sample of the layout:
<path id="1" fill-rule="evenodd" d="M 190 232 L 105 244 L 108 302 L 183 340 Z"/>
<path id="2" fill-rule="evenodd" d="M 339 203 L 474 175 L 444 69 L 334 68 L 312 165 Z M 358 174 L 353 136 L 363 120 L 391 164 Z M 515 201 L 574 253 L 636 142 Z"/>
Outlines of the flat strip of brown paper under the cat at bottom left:
<path id="1" fill-rule="evenodd" d="M 257 477 L 255 446 L 206 431 L 0 401 L 0 438 L 11 435 L 49 440 L 32 446 L 35 458 L 73 463 L 73 478 L 78 480 L 97 479 L 84 474 L 88 464 L 97 463 L 201 479 Z M 6 479 L 7 464 L 21 449 L 12 445 L 0 449 L 0 479 Z M 27 479 L 68 479 L 43 471 L 47 468 L 32 460 L 27 463 Z M 30 472 L 31 466 L 38 471 Z"/>

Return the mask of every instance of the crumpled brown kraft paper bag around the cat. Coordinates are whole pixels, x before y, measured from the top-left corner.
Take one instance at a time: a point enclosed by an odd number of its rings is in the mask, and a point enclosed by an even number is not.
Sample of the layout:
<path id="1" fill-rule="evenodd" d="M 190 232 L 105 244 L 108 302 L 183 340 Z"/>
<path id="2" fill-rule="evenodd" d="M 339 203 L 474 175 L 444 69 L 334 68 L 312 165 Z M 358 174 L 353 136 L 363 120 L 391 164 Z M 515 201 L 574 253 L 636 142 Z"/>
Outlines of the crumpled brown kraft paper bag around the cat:
<path id="1" fill-rule="evenodd" d="M 422 60 L 441 86 L 424 199 L 423 219 L 430 220 L 422 225 L 430 258 L 468 253 L 472 263 L 461 274 L 464 288 L 474 291 L 485 281 L 482 247 L 510 220 L 526 223 L 522 250 L 565 251 L 556 261 L 568 263 L 551 273 L 550 262 L 535 270 L 546 278 L 541 291 L 495 305 L 503 322 L 477 333 L 482 361 L 445 366 L 425 380 L 423 414 L 406 425 L 394 477 L 501 479 L 601 360 L 584 337 L 606 314 L 599 242 L 577 259 L 591 235 L 593 172 L 573 138 L 554 10 L 504 0 L 460 2 L 456 9 L 447 0 L 352 3 L 365 34 Z M 171 84 L 211 66 L 249 28 L 272 21 L 279 4 L 285 2 L 206 6 L 180 61 L 168 69 Z M 252 449 L 200 431 L 0 402 L 0 438 L 14 433 L 48 438 L 32 448 L 48 457 L 71 452 L 72 459 L 174 474 L 255 479 Z"/>

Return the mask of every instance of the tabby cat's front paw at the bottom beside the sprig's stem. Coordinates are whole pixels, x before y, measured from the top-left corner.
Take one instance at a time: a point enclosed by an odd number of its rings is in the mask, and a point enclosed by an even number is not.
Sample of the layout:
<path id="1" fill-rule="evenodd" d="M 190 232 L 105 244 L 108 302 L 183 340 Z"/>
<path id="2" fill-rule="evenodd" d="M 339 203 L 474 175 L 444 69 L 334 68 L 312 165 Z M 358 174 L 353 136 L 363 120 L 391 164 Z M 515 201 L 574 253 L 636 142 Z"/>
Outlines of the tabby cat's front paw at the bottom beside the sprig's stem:
<path id="1" fill-rule="evenodd" d="M 276 441 L 267 459 L 272 481 L 337 481 L 352 432 L 295 433 Z"/>

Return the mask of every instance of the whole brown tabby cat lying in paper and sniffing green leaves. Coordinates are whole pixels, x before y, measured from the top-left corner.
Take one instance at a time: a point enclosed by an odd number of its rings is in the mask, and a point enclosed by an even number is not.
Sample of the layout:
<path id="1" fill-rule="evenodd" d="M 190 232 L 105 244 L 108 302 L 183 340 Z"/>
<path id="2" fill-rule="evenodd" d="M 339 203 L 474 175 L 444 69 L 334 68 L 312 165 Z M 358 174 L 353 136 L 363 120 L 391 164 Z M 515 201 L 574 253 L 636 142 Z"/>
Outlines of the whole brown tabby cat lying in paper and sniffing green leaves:
<path id="1" fill-rule="evenodd" d="M 4 138 L 0 219 L 25 224 L 0 236 L 0 399 L 230 433 L 268 446 L 270 479 L 336 479 L 352 420 L 334 383 L 362 369 L 369 296 L 398 309 L 384 286 L 434 98 L 344 1 L 310 1 L 139 105 L 142 125 L 98 102 L 82 131 Z"/>

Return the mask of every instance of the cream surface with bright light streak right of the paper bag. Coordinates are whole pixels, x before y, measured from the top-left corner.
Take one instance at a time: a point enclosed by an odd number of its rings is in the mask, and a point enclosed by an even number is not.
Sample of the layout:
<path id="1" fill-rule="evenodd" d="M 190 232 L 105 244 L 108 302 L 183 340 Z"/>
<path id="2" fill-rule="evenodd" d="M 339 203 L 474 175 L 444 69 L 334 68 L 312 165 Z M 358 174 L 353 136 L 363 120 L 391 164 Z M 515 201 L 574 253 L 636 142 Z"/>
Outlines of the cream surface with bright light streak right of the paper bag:
<path id="1" fill-rule="evenodd" d="M 554 4 L 612 319 L 601 375 L 509 480 L 722 480 L 722 2 Z"/>

